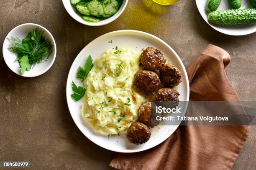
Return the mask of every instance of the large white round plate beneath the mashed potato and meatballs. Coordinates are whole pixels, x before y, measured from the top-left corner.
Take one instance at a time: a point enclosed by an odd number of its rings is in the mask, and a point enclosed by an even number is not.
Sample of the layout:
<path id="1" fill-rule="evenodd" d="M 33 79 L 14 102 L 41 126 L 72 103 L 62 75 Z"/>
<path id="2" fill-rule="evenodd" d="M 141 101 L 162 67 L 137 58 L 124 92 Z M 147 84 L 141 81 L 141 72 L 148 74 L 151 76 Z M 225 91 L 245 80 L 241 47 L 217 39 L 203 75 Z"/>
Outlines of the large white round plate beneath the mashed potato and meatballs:
<path id="1" fill-rule="evenodd" d="M 111 40 L 113 43 L 109 43 Z M 128 47 L 138 52 L 141 52 L 141 49 L 146 47 L 155 47 L 161 50 L 166 57 L 167 62 L 173 63 L 181 71 L 182 82 L 177 87 L 177 90 L 181 94 L 179 100 L 189 100 L 189 81 L 187 72 L 177 53 L 169 45 L 167 45 L 166 42 L 158 37 L 155 37 L 154 35 L 135 30 L 119 30 L 109 32 L 96 38 L 86 47 L 84 47 L 84 49 L 77 55 L 70 68 L 67 78 L 67 103 L 69 111 L 79 130 L 81 130 L 81 132 L 92 142 L 101 146 L 102 148 L 121 153 L 134 153 L 147 150 L 166 140 L 178 128 L 178 125 L 151 128 L 152 135 L 150 140 L 142 145 L 134 145 L 128 142 L 128 140 L 125 138 L 125 134 L 108 138 L 100 133 L 95 133 L 90 125 L 83 120 L 81 114 L 82 100 L 75 102 L 70 97 L 70 95 L 73 93 L 71 85 L 72 81 L 74 81 L 77 85 L 83 86 L 82 82 L 76 78 L 77 68 L 84 65 L 89 55 L 91 55 L 92 59 L 95 60 L 96 57 L 102 56 L 106 50 L 114 48 L 115 46 Z M 184 109 L 184 111 L 186 111 L 186 109 Z"/>

